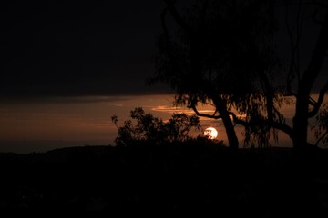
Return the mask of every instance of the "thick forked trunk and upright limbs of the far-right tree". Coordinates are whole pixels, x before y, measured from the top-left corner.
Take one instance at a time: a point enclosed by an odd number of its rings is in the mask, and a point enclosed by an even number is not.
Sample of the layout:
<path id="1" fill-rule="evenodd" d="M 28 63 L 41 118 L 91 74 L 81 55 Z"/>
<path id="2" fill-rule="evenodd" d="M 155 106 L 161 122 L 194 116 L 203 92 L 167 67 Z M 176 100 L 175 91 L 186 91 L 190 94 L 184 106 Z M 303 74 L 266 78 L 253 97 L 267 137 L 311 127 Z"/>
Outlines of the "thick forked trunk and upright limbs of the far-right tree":
<path id="1" fill-rule="evenodd" d="M 328 81 L 323 84 L 319 91 L 319 97 L 315 101 L 311 97 L 313 92 L 313 84 L 322 73 L 322 66 L 327 56 L 328 49 L 328 5 L 321 4 L 317 1 L 312 2 L 312 7 L 302 3 L 296 2 L 297 11 L 290 12 L 294 18 L 294 25 L 288 25 L 292 55 L 290 58 L 289 78 L 287 84 L 287 94 L 292 94 L 296 99 L 295 116 L 293 117 L 292 131 L 290 137 L 295 148 L 303 148 L 308 144 L 308 120 L 314 117 L 320 111 L 323 104 L 324 94 L 328 90 Z M 324 2 L 323 2 L 324 3 Z M 289 5 L 287 5 L 289 6 Z M 322 21 L 317 22 L 317 14 L 322 13 Z M 305 15 L 312 15 L 312 25 L 321 25 L 320 32 L 313 47 L 313 54 L 309 58 L 309 64 L 302 72 L 300 68 L 300 40 L 302 36 L 302 23 Z M 317 24 L 316 24 L 317 23 Z M 291 84 L 296 81 L 296 93 L 292 92 Z"/>

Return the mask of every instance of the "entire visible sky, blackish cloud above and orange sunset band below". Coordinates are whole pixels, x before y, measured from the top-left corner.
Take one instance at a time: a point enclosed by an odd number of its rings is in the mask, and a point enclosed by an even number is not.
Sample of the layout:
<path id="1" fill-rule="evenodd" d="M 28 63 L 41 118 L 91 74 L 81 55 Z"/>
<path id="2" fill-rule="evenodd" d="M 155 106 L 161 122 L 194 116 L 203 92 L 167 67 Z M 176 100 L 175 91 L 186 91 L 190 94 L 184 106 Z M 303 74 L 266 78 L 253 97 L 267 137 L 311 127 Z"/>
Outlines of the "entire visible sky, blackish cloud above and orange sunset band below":
<path id="1" fill-rule="evenodd" d="M 110 116 L 122 121 L 138 106 L 164 120 L 190 113 L 172 107 L 166 85 L 145 85 L 155 73 L 163 8 L 161 0 L 2 1 L 0 152 L 113 144 Z M 311 28 L 304 45 L 313 42 L 317 28 Z M 226 140 L 220 121 L 202 124 Z"/>

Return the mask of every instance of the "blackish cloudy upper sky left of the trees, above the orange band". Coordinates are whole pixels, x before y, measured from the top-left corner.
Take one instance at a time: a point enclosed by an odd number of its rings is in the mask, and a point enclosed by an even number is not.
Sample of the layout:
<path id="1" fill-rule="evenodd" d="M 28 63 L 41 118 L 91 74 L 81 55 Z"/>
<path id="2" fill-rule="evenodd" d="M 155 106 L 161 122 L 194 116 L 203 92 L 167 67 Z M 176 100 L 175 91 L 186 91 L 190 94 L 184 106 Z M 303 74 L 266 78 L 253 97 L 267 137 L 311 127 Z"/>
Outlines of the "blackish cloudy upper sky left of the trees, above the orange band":
<path id="1" fill-rule="evenodd" d="M 0 94 L 160 92 L 146 87 L 160 0 L 1 3 Z"/>

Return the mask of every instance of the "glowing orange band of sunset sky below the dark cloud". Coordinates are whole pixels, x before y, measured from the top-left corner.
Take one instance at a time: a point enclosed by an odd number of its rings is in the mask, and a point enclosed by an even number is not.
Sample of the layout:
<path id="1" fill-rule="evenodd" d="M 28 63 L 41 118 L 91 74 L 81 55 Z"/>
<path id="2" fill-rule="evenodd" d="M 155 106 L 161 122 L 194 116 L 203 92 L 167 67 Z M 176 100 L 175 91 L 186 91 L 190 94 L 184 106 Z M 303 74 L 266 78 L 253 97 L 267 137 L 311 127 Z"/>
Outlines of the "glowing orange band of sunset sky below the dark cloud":
<path id="1" fill-rule="evenodd" d="M 69 96 L 37 97 L 0 102 L 0 152 L 32 153 L 52 149 L 84 145 L 115 145 L 118 129 L 111 122 L 118 115 L 118 126 L 129 117 L 129 112 L 142 106 L 147 113 L 169 120 L 173 113 L 193 114 L 186 107 L 175 107 L 173 94 L 116 95 L 116 96 Z M 212 111 L 211 107 L 200 108 L 201 113 Z M 288 121 L 292 114 L 289 108 L 283 113 Z M 200 130 L 191 135 L 203 134 L 212 126 L 218 130 L 217 139 L 227 144 L 225 129 L 220 120 L 200 118 Z M 242 127 L 236 132 L 242 146 Z M 286 135 L 280 136 L 280 144 L 291 146 Z M 272 145 L 274 144 L 272 141 Z"/>

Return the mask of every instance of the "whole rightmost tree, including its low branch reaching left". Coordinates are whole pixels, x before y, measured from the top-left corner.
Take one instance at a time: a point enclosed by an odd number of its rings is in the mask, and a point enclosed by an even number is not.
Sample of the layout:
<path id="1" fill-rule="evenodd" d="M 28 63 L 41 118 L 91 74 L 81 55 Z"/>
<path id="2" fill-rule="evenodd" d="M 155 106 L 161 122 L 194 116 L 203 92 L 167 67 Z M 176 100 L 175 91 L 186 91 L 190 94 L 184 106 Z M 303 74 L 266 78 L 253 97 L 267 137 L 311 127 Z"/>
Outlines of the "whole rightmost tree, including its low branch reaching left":
<path id="1" fill-rule="evenodd" d="M 282 4 L 280 3 L 278 2 L 276 7 L 284 15 L 283 21 L 281 20 L 280 22 L 281 26 L 286 26 L 285 38 L 289 39 L 291 51 L 289 56 L 283 60 L 286 68 L 286 74 L 282 77 L 284 84 L 280 88 L 272 84 L 267 85 L 269 93 L 264 92 L 264 97 L 267 102 L 267 112 L 270 112 L 277 110 L 274 104 L 272 104 L 270 93 L 280 93 L 279 98 L 275 99 L 278 102 L 286 102 L 286 97 L 292 96 L 294 98 L 295 114 L 292 119 L 292 126 L 284 122 L 277 123 L 270 119 L 265 124 L 288 134 L 292 139 L 293 147 L 303 150 L 312 145 L 308 143 L 307 139 L 309 119 L 316 116 L 319 128 L 324 129 L 325 116 L 323 116 L 323 111 L 325 109 L 322 106 L 324 95 L 328 90 L 327 78 L 323 82 L 322 87 L 319 88 L 316 100 L 313 99 L 311 94 L 317 91 L 317 87 L 314 85 L 315 81 L 319 78 L 324 79 L 320 74 L 324 74 L 323 64 L 326 63 L 325 58 L 327 57 L 328 49 L 328 5 L 325 5 L 325 2 L 320 3 L 320 1 L 315 0 L 310 2 L 286 1 L 282 2 Z M 317 25 L 319 29 L 317 35 L 310 32 L 313 30 L 309 29 L 309 27 L 313 27 L 313 25 Z M 303 41 L 302 43 L 302 35 L 315 35 L 317 37 L 310 37 L 313 38 L 313 42 Z M 283 42 L 278 42 L 278 44 L 283 44 Z M 313 53 L 306 56 L 302 54 L 302 49 L 308 45 L 313 45 Z M 280 46 L 282 47 L 283 45 Z M 318 114 L 319 112 L 321 113 Z M 280 112 L 279 114 L 282 113 Z M 270 117 L 269 113 L 268 117 Z M 320 134 L 323 134 L 323 132 L 315 132 L 317 138 L 323 139 L 324 136 Z"/>

